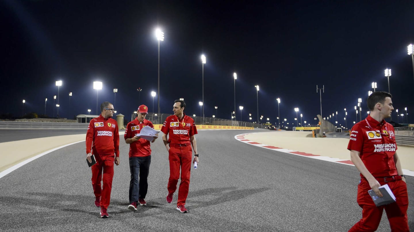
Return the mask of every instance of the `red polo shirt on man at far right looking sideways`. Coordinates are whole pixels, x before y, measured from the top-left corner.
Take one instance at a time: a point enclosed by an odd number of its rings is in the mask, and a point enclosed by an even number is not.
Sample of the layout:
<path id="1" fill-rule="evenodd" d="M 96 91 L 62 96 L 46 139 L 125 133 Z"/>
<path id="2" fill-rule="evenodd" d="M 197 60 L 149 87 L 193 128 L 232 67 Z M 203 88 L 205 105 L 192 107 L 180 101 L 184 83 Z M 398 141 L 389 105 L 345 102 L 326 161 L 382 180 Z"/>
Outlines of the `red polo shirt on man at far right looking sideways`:
<path id="1" fill-rule="evenodd" d="M 385 120 L 378 122 L 368 115 L 356 123 L 351 129 L 348 150 L 360 152 L 362 162 L 374 177 L 398 174 L 394 163 L 394 127 Z"/>

